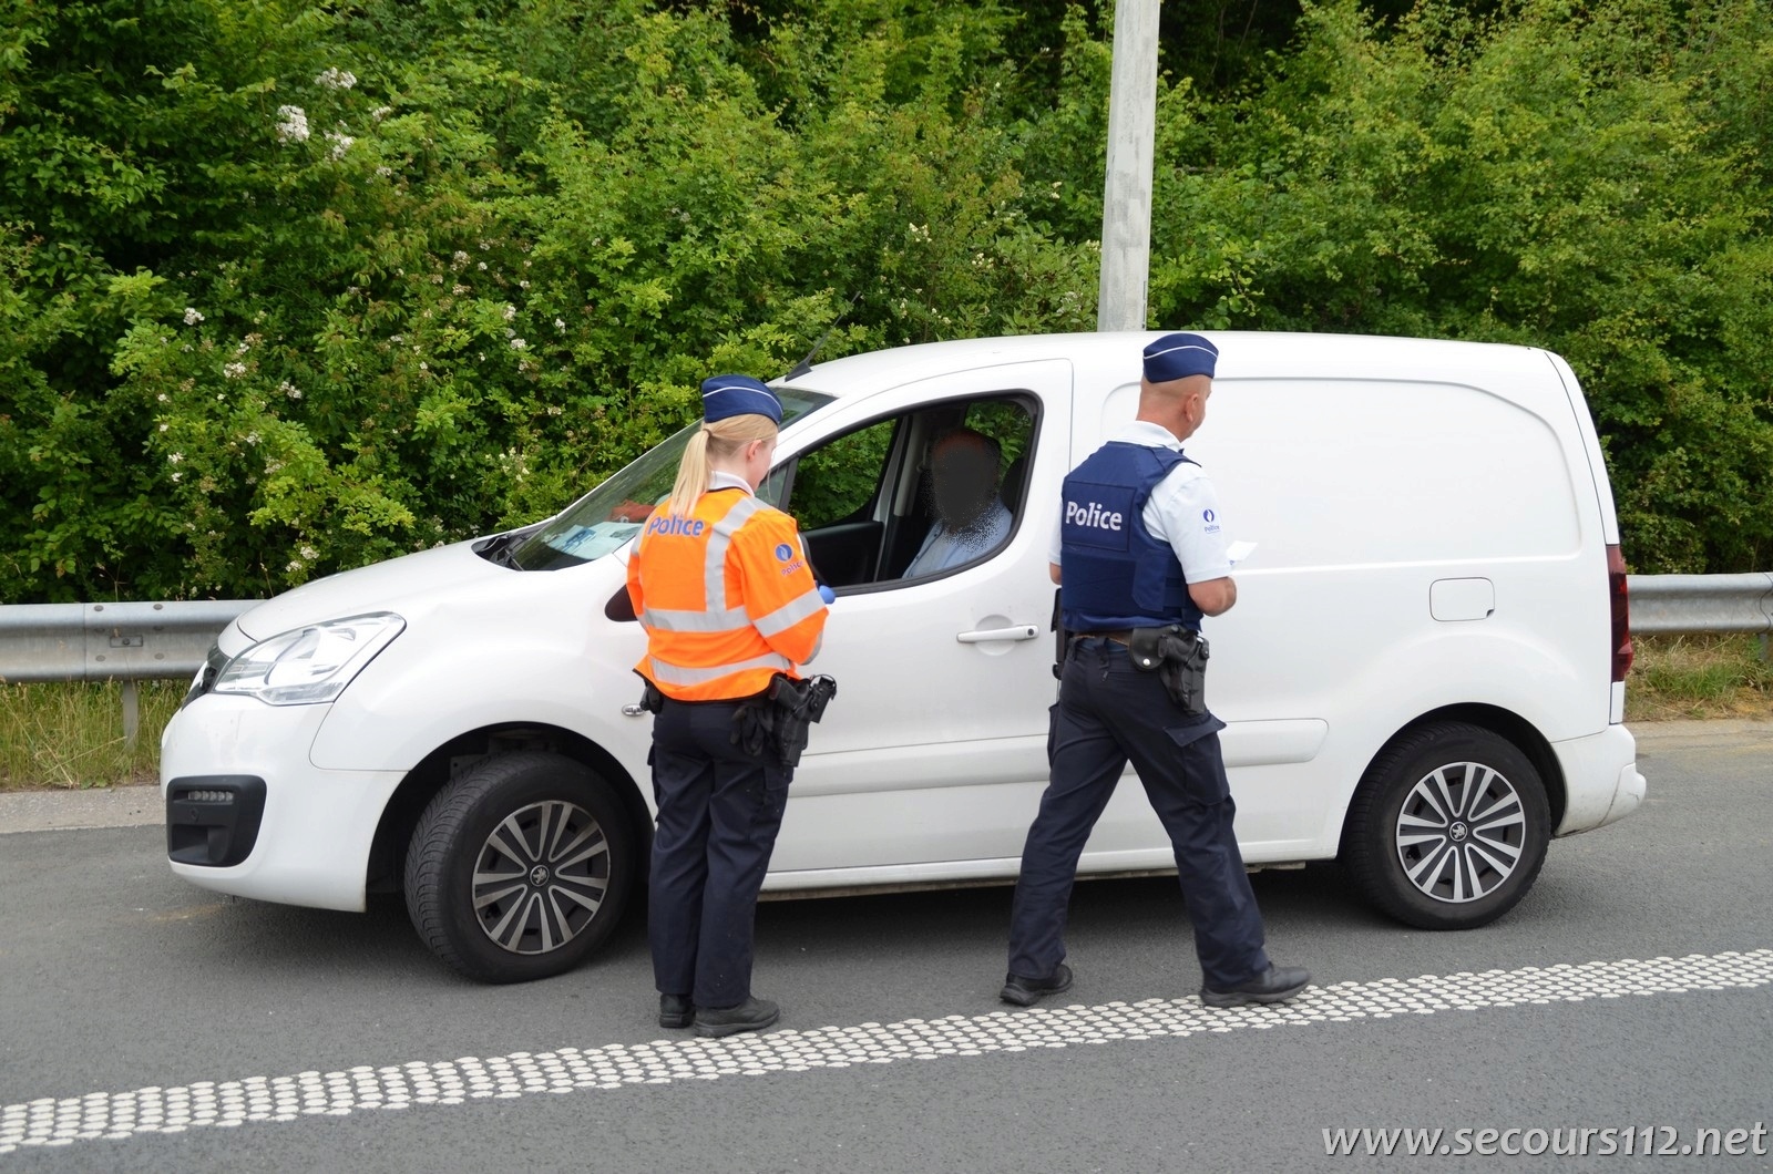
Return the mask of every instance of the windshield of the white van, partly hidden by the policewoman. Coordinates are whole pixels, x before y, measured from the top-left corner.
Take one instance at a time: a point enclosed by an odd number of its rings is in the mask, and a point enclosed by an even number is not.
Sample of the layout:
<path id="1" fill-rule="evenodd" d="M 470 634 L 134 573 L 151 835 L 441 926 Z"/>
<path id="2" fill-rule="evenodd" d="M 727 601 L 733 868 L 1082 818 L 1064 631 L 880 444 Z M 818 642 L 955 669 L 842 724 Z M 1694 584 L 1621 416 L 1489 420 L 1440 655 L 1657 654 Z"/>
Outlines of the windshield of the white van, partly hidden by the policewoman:
<path id="1" fill-rule="evenodd" d="M 782 401 L 782 427 L 832 403 L 830 395 L 798 388 L 773 388 Z M 670 497 L 677 481 L 677 461 L 700 424 L 691 424 L 668 440 L 642 452 L 619 474 L 578 498 L 560 514 L 523 534 L 496 560 L 519 571 L 558 571 L 592 562 L 621 550 L 652 507 Z M 491 552 L 482 552 L 491 555 Z"/>

